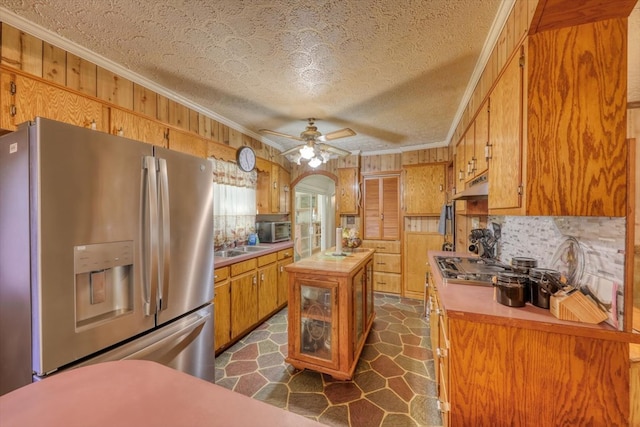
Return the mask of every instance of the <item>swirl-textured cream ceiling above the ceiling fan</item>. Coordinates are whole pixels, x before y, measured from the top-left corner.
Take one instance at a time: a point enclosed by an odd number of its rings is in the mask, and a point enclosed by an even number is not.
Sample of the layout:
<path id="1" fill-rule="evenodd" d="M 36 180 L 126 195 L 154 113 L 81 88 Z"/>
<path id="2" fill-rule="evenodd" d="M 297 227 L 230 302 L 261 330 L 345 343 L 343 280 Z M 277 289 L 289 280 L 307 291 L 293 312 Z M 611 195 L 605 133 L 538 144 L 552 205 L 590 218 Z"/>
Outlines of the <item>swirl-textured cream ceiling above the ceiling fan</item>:
<path id="1" fill-rule="evenodd" d="M 332 144 L 373 153 L 449 142 L 512 4 L 3 0 L 0 12 L 277 148 L 297 141 L 258 129 L 299 135 L 315 117 L 323 134 L 357 132 Z"/>

